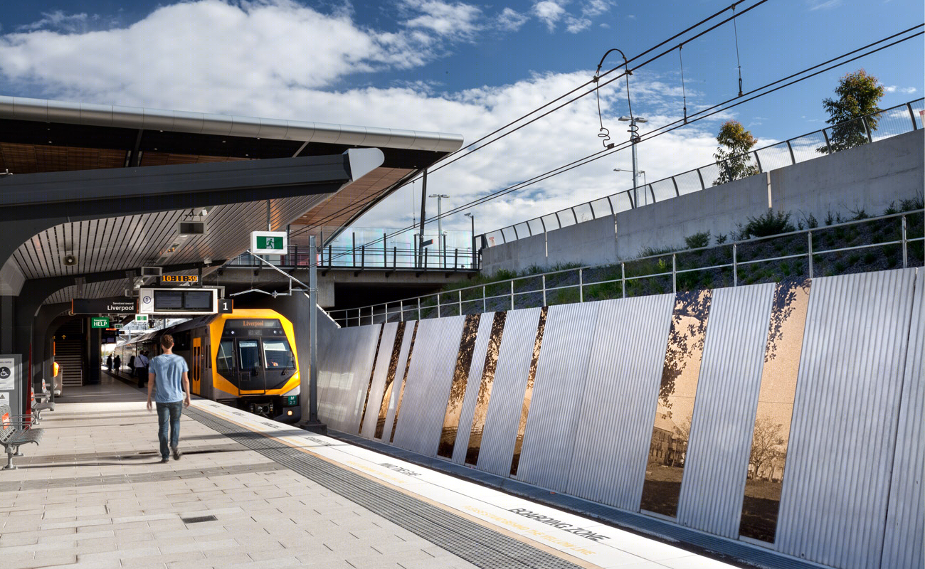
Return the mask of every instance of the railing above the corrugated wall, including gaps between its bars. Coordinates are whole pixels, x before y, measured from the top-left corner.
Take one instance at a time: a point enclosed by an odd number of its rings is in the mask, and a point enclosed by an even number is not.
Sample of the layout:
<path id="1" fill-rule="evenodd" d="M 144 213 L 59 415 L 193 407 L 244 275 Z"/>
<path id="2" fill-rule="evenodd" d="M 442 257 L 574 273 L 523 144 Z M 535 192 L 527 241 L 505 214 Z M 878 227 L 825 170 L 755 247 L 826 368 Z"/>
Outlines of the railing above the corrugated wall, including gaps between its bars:
<path id="1" fill-rule="evenodd" d="M 920 205 L 920 204 L 919 204 Z M 342 327 L 925 266 L 925 210 L 331 310 Z"/>

